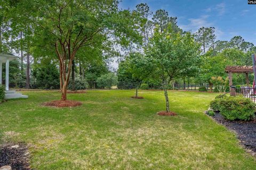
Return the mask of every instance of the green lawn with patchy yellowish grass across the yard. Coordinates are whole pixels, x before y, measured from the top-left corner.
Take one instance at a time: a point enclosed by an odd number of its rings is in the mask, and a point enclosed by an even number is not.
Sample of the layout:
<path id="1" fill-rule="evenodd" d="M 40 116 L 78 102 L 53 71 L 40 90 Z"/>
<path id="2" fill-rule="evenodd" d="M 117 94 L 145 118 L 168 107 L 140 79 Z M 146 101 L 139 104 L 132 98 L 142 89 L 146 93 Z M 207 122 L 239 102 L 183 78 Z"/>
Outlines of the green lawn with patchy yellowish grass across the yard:
<path id="1" fill-rule="evenodd" d="M 234 133 L 204 114 L 217 94 L 95 90 L 68 94 L 75 108 L 42 106 L 58 92 L 29 91 L 28 99 L 0 104 L 0 138 L 25 142 L 35 169 L 256 169 Z"/>

